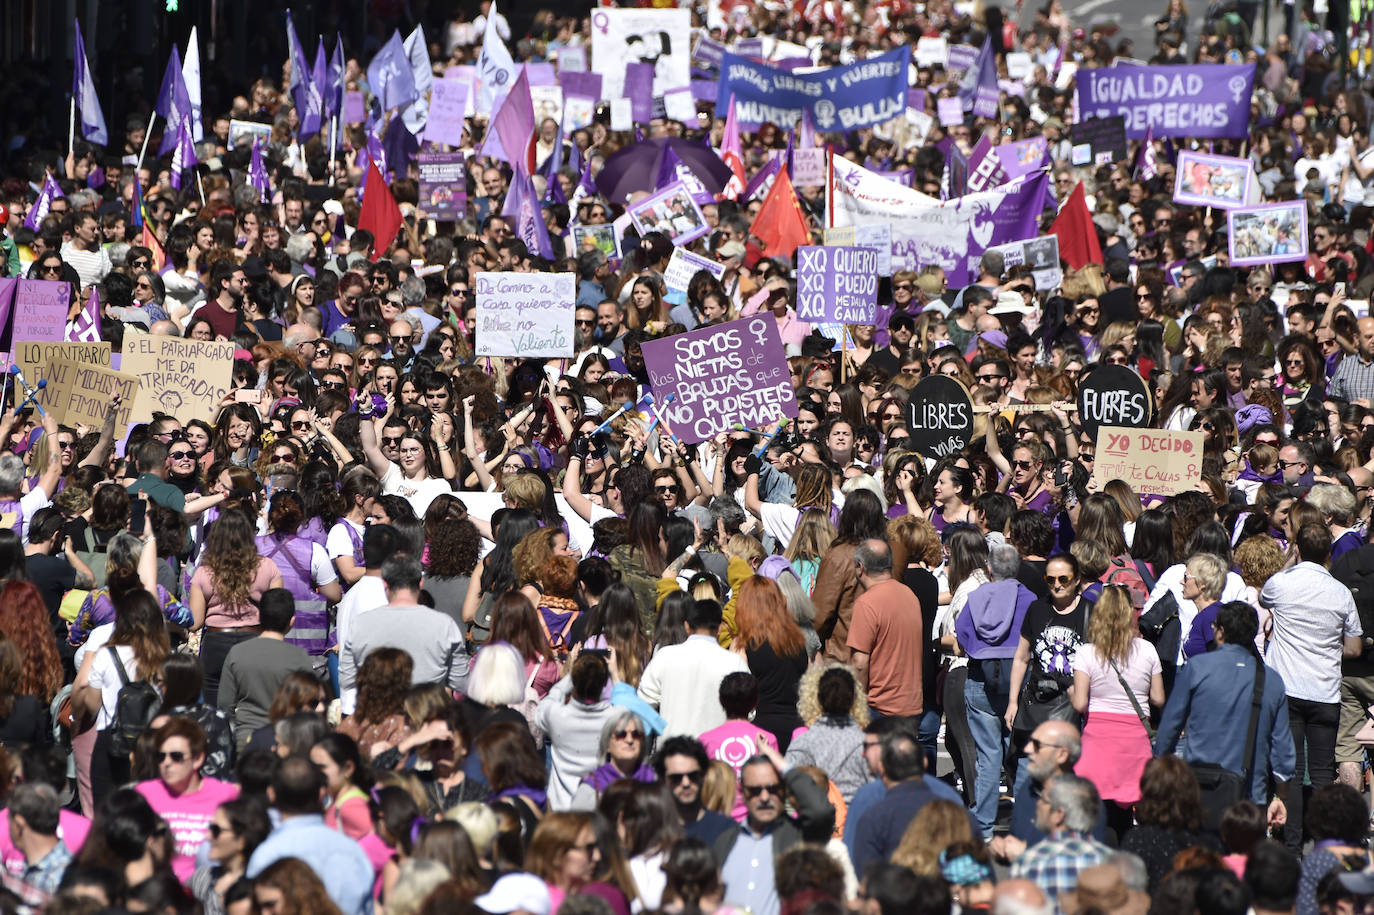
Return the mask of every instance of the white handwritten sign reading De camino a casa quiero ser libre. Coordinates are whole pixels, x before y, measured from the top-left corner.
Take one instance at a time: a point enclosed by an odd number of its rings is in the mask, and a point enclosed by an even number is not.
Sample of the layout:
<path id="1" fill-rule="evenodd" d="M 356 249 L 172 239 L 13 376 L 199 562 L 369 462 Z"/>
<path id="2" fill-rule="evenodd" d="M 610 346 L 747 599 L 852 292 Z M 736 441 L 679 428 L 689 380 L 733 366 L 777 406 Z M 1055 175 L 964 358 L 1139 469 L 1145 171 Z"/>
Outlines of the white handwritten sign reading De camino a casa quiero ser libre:
<path id="1" fill-rule="evenodd" d="M 573 354 L 573 273 L 477 273 L 477 354 Z"/>

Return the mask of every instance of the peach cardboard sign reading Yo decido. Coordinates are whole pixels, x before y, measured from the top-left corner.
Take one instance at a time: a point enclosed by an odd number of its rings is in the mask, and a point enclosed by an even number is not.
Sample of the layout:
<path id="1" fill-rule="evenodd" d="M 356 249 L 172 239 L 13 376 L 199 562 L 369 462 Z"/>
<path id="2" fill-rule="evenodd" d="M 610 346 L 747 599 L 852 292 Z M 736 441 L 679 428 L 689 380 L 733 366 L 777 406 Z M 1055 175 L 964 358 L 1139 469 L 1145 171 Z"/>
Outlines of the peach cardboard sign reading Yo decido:
<path id="1" fill-rule="evenodd" d="M 1201 431 L 1102 426 L 1092 479 L 1098 492 L 1113 479 L 1140 495 L 1191 492 L 1202 482 L 1202 438 Z"/>

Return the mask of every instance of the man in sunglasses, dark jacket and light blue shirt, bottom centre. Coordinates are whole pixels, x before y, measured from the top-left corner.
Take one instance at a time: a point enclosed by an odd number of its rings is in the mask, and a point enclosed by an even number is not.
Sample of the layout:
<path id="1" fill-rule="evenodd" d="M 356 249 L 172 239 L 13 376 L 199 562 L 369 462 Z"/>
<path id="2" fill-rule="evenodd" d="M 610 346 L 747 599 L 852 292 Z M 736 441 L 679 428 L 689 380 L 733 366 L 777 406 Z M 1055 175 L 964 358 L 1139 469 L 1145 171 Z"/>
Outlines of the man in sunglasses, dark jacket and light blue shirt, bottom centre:
<path id="1" fill-rule="evenodd" d="M 834 831 L 835 808 L 809 775 L 790 768 L 763 741 L 739 773 L 747 815 L 727 830 L 713 849 L 720 861 L 725 901 L 753 915 L 778 915 L 780 903 L 774 861 L 798 842 L 824 844 Z M 797 816 L 783 809 L 783 786 L 791 793 Z"/>

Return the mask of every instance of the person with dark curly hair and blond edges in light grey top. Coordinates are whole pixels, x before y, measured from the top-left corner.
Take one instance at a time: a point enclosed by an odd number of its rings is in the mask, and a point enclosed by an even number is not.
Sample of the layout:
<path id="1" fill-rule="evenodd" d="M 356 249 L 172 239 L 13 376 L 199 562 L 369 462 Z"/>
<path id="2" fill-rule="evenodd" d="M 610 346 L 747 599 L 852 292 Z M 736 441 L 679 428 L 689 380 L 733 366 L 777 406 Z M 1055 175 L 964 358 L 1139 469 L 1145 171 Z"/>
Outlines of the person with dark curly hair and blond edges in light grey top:
<path id="1" fill-rule="evenodd" d="M 870 780 L 863 756 L 868 702 L 853 668 L 834 661 L 812 665 L 798 694 L 797 712 L 807 730 L 791 739 L 786 760 L 791 765 L 820 767 L 848 804 Z"/>

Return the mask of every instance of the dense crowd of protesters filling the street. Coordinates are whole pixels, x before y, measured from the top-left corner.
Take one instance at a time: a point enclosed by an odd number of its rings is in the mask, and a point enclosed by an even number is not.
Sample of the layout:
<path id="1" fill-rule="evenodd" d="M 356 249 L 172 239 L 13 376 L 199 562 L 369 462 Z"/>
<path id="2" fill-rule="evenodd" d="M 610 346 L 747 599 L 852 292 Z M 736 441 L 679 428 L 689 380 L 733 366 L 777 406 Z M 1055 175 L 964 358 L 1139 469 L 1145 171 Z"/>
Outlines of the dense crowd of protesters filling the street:
<path id="1" fill-rule="evenodd" d="M 666 235 L 631 234 L 622 261 L 574 247 L 570 224 L 627 202 L 577 194 L 572 168 L 548 179 L 573 201 L 543 207 L 554 258 L 480 155 L 463 218 L 434 221 L 403 170 L 401 229 L 374 238 L 363 125 L 330 173 L 286 76 L 206 107 L 180 191 L 170 157 L 139 161 L 143 117 L 122 147 L 21 150 L 0 275 L 67 280 L 73 319 L 93 289 L 115 353 L 238 352 L 209 419 L 159 412 L 125 441 L 118 401 L 99 429 L 0 419 L 0 907 L 1367 911 L 1374 100 L 1334 36 L 1309 4 L 1260 47 L 1257 4 L 1190 22 L 1171 0 L 1149 49 L 1058 0 L 1020 33 L 951 3 L 732 5 L 714 38 L 822 66 L 940 34 L 1028 52 L 995 120 L 820 142 L 938 195 L 940 143 L 1041 136 L 1102 262 L 1054 287 L 995 251 L 963 289 L 899 269 L 837 349 L 797 319 L 758 199 L 703 207 L 691 247 L 724 276 L 676 301 Z M 475 59 L 500 15 L 481 7 L 431 29 L 437 73 Z M 503 37 L 543 60 L 589 30 L 544 12 Z M 1305 203 L 1305 261 L 1232 268 L 1224 214 L 1173 202 L 1164 140 L 1151 177 L 1138 143 L 1072 163 L 1058 74 L 1114 58 L 1257 69 L 1249 137 L 1213 151 Z M 915 78 L 932 111 L 955 91 Z M 348 80 L 367 89 L 356 60 Z M 646 135 L 719 146 L 724 113 L 699 107 Z M 639 142 L 598 117 L 541 125 L 540 159 L 576 144 L 595 170 Z M 231 118 L 271 124 L 269 203 Z M 797 126 L 746 133 L 747 174 Z M 45 169 L 63 196 L 25 227 Z M 819 240 L 822 188 L 798 194 Z M 477 357 L 484 271 L 576 273 L 576 356 Z M 756 312 L 796 419 L 765 447 L 654 423 L 643 345 Z M 1101 365 L 1139 374 L 1153 426 L 1201 433 L 1195 486 L 1094 474 L 1072 405 Z M 908 412 L 934 374 L 987 408 L 938 460 Z"/>

